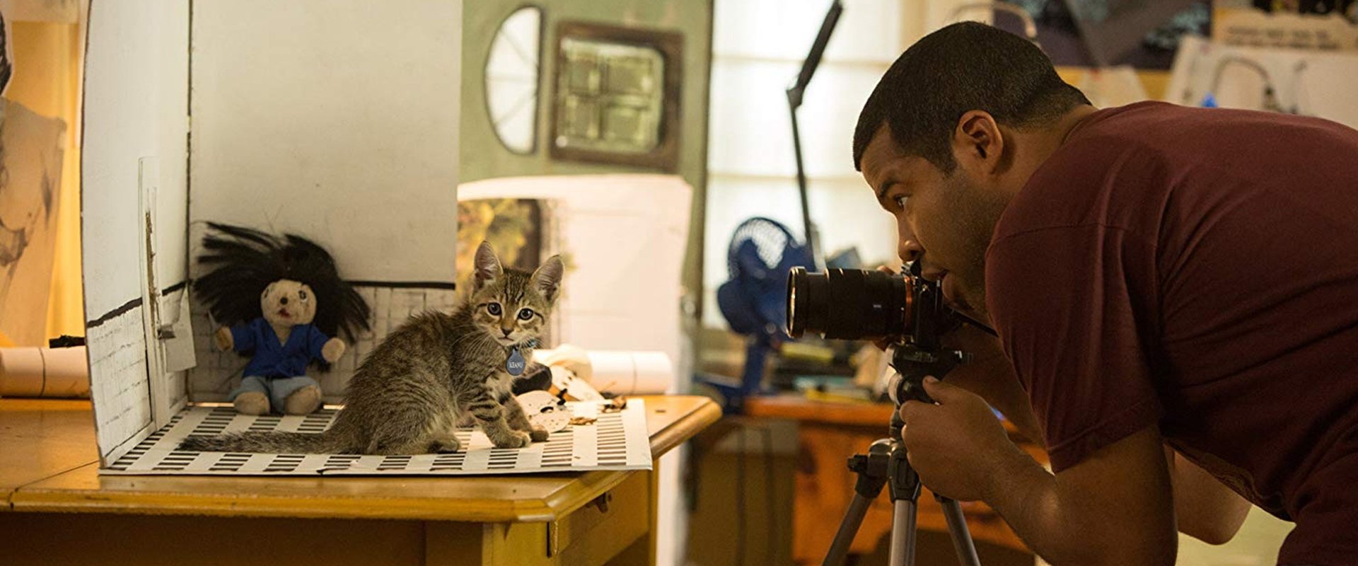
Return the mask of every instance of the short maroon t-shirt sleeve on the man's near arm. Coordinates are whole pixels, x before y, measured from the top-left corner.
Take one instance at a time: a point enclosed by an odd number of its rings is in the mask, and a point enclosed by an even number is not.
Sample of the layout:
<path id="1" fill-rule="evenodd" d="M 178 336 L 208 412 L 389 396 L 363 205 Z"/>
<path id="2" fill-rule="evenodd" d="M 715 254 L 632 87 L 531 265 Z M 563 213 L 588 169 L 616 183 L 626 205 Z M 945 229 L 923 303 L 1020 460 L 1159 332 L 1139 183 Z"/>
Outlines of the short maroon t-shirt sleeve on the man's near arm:
<path id="1" fill-rule="evenodd" d="M 1146 342 L 1154 251 L 1104 225 L 1002 238 L 986 255 L 986 304 L 1042 425 L 1052 470 L 1160 419 Z"/>

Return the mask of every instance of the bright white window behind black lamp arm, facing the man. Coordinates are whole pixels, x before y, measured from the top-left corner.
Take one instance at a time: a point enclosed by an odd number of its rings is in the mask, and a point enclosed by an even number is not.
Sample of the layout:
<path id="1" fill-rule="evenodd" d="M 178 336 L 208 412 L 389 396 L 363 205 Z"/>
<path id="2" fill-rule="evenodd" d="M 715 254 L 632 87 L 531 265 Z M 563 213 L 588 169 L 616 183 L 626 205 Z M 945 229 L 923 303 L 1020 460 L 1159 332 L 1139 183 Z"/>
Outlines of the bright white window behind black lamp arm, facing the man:
<path id="1" fill-rule="evenodd" d="M 785 90 L 827 7 L 820 0 L 716 3 L 703 250 L 706 327 L 727 327 L 716 289 L 729 277 L 727 248 L 741 221 L 767 216 L 805 242 Z M 907 10 L 898 0 L 846 3 L 797 113 L 811 217 L 820 235 L 819 251 L 827 257 L 857 247 L 865 261 L 895 258 L 895 221 L 854 170 L 850 149 L 858 110 L 906 43 Z"/>

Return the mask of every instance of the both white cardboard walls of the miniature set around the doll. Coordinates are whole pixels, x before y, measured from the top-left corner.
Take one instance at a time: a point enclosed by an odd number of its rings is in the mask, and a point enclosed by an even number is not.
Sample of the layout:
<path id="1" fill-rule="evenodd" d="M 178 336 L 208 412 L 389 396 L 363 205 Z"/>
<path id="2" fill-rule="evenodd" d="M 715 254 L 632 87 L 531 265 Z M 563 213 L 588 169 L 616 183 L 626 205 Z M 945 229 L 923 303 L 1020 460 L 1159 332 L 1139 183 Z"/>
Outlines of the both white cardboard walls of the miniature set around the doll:
<path id="1" fill-rule="evenodd" d="M 372 307 L 337 399 L 395 323 L 452 304 L 462 3 L 117 0 L 90 14 L 83 252 L 105 461 L 244 358 L 186 300 L 205 223 L 325 246 Z M 191 295 L 191 293 L 189 293 Z"/>

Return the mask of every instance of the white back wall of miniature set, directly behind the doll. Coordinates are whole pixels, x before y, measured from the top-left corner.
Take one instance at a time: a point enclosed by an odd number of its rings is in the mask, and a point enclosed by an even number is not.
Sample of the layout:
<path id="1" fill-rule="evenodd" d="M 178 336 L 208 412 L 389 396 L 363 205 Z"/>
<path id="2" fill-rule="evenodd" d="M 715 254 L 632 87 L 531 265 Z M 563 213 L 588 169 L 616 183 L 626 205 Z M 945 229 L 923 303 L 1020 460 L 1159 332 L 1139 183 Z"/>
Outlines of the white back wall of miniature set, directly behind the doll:
<path id="1" fill-rule="evenodd" d="M 452 304 L 462 3 L 197 0 L 191 221 L 325 246 L 372 307 L 329 402 L 387 330 Z M 325 308 L 322 305 L 320 308 Z M 194 400 L 227 400 L 246 360 L 196 308 Z"/>

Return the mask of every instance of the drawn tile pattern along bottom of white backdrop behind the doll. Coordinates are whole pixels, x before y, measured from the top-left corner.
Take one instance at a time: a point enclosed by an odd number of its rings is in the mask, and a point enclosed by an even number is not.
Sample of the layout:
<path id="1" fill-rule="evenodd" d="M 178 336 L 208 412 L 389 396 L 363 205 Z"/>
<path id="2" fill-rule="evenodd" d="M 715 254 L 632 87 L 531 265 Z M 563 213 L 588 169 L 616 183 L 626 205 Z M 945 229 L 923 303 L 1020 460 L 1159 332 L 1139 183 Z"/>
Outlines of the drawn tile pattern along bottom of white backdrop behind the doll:
<path id="1" fill-rule="evenodd" d="M 344 399 L 345 384 L 353 376 L 359 362 L 386 338 L 387 333 L 403 323 L 410 315 L 422 311 L 449 311 L 456 303 L 458 293 L 452 289 L 436 288 L 391 288 L 391 286 L 359 286 L 359 295 L 368 301 L 372 308 L 372 330 L 357 337 L 354 343 L 349 343 L 344 357 L 335 362 L 329 372 L 311 369 L 308 375 L 320 381 L 326 403 L 338 403 Z M 325 308 L 322 305 L 320 308 Z M 208 319 L 208 312 L 201 304 L 193 304 L 193 334 L 194 349 L 198 356 L 198 365 L 189 371 L 189 395 L 194 402 L 225 402 L 240 383 L 240 372 L 249 358 L 240 357 L 235 352 L 219 352 L 213 345 L 212 335 L 217 331 L 217 324 Z"/>

